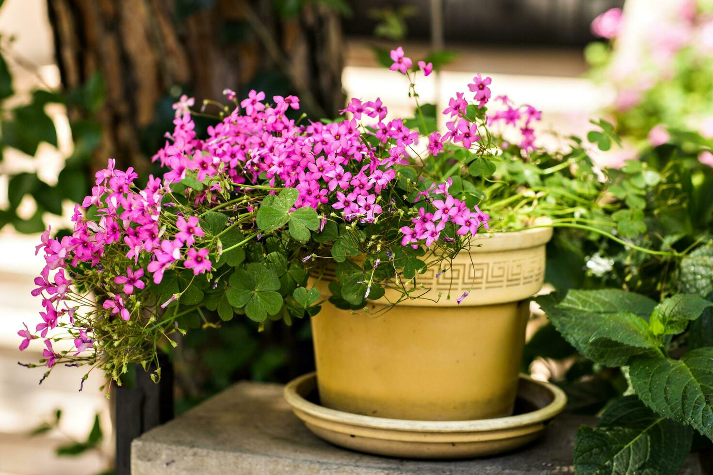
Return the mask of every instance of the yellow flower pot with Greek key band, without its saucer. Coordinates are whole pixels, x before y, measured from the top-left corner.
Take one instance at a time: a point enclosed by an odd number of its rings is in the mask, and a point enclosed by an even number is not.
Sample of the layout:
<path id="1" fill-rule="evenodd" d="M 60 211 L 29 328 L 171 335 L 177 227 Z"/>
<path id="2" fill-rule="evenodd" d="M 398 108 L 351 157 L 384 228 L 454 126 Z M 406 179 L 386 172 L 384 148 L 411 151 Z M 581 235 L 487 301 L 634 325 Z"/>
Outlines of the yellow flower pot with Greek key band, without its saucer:
<path id="1" fill-rule="evenodd" d="M 325 303 L 312 318 L 322 406 L 411 420 L 510 415 L 529 315 L 525 299 L 543 284 L 551 236 L 550 228 L 478 234 L 482 246 L 461 252 L 446 273 L 418 277 L 431 288 L 426 298 L 443 292 L 437 302 L 408 300 L 376 316 Z M 326 287 L 324 279 L 319 285 Z M 469 295 L 458 305 L 464 291 Z M 391 301 L 399 295 L 386 291 Z M 383 307 L 370 303 L 371 313 Z"/>

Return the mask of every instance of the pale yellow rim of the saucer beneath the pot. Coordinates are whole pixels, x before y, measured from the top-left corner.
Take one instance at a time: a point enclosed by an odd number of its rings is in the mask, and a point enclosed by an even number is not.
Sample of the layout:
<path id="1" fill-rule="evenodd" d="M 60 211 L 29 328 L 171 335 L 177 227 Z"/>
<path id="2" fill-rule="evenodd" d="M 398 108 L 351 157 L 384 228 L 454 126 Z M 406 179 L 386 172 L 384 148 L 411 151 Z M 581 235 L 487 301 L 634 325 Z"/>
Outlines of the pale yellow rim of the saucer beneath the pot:
<path id="1" fill-rule="evenodd" d="M 284 387 L 284 399 L 294 410 L 304 412 L 317 419 L 337 422 L 339 424 L 349 424 L 355 427 L 369 429 L 389 429 L 404 432 L 492 432 L 503 429 L 515 429 L 527 427 L 531 424 L 540 424 L 555 417 L 562 412 L 567 403 L 565 392 L 559 387 L 538 380 L 528 375 L 520 374 L 519 378 L 543 387 L 553 395 L 553 400 L 545 407 L 536 409 L 525 414 L 518 414 L 508 417 L 496 417 L 493 419 L 475 419 L 469 421 L 419 421 L 406 419 L 388 419 L 386 417 L 371 417 L 361 414 L 329 409 L 328 407 L 309 402 L 299 395 L 298 388 L 315 380 L 316 373 L 309 372 L 306 375 L 295 378 Z"/>

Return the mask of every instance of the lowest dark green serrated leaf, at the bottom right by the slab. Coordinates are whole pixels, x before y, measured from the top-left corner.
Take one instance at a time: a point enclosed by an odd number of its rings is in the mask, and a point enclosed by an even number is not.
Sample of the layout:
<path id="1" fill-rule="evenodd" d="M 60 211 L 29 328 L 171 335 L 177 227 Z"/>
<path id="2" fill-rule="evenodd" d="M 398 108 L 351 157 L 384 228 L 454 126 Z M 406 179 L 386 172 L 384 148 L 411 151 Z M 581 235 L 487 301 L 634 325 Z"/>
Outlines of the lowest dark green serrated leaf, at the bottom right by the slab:
<path id="1" fill-rule="evenodd" d="M 578 474 L 674 475 L 691 449 L 692 429 L 652 412 L 635 396 L 622 397 L 602 414 L 597 427 L 575 437 Z"/>

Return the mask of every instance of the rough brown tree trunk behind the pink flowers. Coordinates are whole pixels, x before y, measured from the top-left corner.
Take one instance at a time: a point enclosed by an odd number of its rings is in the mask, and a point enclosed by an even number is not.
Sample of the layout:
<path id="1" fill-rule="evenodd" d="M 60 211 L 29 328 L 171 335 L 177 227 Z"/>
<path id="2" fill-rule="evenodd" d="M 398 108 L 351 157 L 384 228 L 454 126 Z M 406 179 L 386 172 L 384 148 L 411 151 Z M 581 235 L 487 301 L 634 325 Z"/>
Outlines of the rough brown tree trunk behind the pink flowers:
<path id="1" fill-rule="evenodd" d="M 151 147 L 169 130 L 158 128 L 157 117 L 163 108 L 162 125 L 170 126 L 165 110 L 184 92 L 200 107 L 203 99 L 220 100 L 224 88 L 240 98 L 273 78 L 262 87 L 268 98 L 294 93 L 312 117 L 336 115 L 344 105 L 337 12 L 306 2 L 286 18 L 272 5 L 48 0 L 63 88 L 81 87 L 95 71 L 103 79 L 104 102 L 93 118 L 102 141 L 91 168 L 113 157 L 118 167 L 147 169 Z M 71 118 L 76 114 L 70 110 Z"/>

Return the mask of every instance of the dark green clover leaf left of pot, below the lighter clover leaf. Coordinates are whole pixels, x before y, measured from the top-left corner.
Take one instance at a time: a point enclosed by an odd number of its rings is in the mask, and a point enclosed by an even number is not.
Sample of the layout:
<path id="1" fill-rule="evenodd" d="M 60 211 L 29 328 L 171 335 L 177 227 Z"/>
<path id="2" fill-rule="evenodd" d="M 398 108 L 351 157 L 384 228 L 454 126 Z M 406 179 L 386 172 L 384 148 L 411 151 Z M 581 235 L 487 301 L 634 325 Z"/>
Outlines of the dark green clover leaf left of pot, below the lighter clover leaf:
<path id="1" fill-rule="evenodd" d="M 245 307 L 245 315 L 256 322 L 267 319 L 267 314 L 277 315 L 282 308 L 279 278 L 274 271 L 260 263 L 250 263 L 247 271 L 235 269 L 225 293 L 233 307 Z"/>

